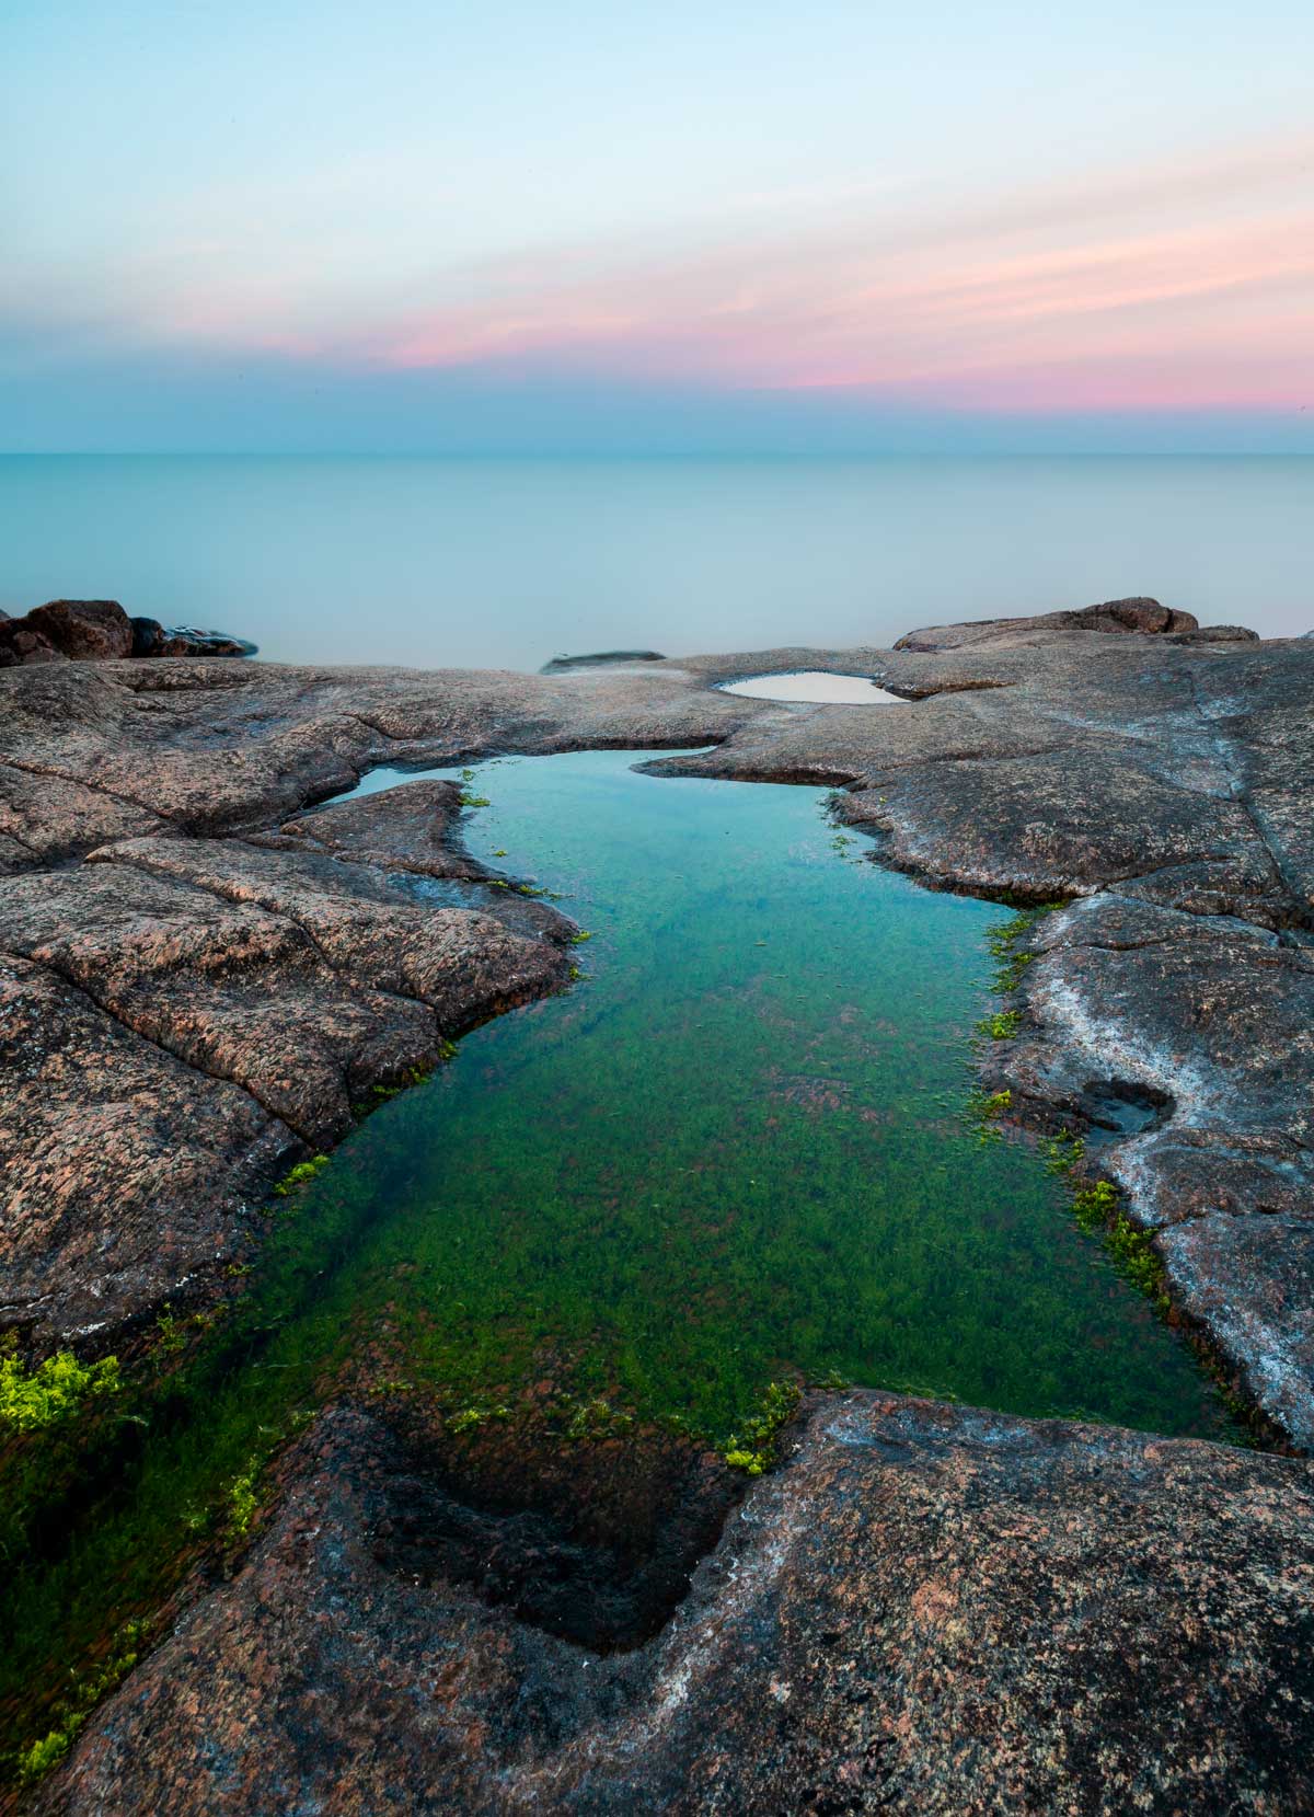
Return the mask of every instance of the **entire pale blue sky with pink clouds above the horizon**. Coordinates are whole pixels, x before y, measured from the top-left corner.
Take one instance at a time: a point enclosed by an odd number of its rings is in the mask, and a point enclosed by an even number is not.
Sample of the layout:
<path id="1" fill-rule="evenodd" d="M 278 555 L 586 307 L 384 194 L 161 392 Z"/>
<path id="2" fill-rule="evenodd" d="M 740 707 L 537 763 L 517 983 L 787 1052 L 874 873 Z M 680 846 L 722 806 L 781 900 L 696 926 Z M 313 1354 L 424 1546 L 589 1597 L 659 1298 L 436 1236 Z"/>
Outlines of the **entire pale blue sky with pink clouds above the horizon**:
<path id="1" fill-rule="evenodd" d="M 1309 0 L 0 0 L 0 447 L 1314 451 Z"/>

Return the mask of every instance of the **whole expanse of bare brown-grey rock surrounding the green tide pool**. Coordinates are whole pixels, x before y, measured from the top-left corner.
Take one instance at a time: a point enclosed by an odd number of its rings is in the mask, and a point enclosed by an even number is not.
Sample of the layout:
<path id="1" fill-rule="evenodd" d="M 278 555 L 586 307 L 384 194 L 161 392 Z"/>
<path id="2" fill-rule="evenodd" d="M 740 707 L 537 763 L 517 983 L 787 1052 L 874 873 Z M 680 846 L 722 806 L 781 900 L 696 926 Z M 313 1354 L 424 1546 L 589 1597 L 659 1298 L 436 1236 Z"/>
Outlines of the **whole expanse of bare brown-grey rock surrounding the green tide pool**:
<path id="1" fill-rule="evenodd" d="M 216 1292 L 245 1208 L 360 1099 L 565 981 L 571 923 L 463 856 L 454 789 L 316 801 L 378 763 L 647 747 L 665 774 L 832 783 L 932 887 L 1067 903 L 987 1087 L 1085 1136 L 1174 1303 L 1309 1450 L 1314 643 L 1187 616 L 547 676 L 11 667 L 0 1321 L 107 1350 Z M 716 689 L 792 669 L 907 705 Z M 413 1466 L 340 1406 L 42 1808 L 1314 1808 L 1305 1459 L 874 1394 L 796 1443 L 662 1632 L 594 1653 L 380 1563 Z"/>

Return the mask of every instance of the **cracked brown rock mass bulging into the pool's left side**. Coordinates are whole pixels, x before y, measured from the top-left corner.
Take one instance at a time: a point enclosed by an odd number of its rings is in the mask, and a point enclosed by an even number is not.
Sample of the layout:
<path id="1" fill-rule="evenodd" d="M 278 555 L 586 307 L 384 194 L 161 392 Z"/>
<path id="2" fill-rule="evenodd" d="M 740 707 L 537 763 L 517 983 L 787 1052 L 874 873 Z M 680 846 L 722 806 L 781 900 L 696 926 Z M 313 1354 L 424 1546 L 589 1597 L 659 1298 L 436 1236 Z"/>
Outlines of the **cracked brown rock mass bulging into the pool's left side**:
<path id="1" fill-rule="evenodd" d="M 423 907 L 367 863 L 238 839 L 145 838 L 95 858 L 0 881 L 22 1003 L 80 1007 L 67 1036 L 67 1016 L 33 1016 L 0 1067 L 0 1323 L 44 1343 L 176 1294 L 245 1239 L 242 1194 L 267 1190 L 302 1143 L 334 1141 L 374 1085 L 567 970 L 571 925 L 543 903 L 507 927 Z M 140 1083 L 116 1085 L 125 1068 Z M 162 1172 L 185 1216 L 162 1208 Z"/>

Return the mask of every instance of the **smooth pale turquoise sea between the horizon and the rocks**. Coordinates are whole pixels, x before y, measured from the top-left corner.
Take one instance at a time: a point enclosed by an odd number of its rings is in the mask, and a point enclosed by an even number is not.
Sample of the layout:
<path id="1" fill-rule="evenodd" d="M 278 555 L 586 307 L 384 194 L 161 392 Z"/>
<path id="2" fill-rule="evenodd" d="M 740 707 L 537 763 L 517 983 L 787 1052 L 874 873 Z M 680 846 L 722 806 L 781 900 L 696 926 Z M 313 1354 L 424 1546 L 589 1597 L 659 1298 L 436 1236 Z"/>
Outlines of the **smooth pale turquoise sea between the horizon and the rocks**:
<path id="1" fill-rule="evenodd" d="M 0 458 L 0 607 L 116 598 L 274 661 L 887 645 L 1149 592 L 1314 629 L 1314 458 Z"/>

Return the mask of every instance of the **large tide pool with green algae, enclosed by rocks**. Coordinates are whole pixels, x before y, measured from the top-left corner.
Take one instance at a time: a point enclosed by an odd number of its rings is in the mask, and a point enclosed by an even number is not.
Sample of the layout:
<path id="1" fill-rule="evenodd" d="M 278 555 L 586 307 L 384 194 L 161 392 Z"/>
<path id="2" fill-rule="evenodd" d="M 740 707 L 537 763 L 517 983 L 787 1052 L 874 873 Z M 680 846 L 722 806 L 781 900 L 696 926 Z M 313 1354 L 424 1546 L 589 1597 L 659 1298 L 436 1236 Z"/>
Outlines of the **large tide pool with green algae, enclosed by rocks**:
<path id="1" fill-rule="evenodd" d="M 107 1633 L 245 1539 L 345 1368 L 458 1439 L 549 1383 L 562 1443 L 665 1421 L 747 1474 L 803 1381 L 1236 1437 L 1070 1187 L 1000 1143 L 1007 1094 L 971 1094 L 990 958 L 1016 983 L 1038 912 L 992 936 L 996 907 L 836 849 L 820 790 L 638 756 L 502 761 L 467 825 L 587 923 L 589 978 L 374 1094 L 273 1197 L 220 1325 L 11 1446 L 11 1748 L 58 1730 Z"/>

